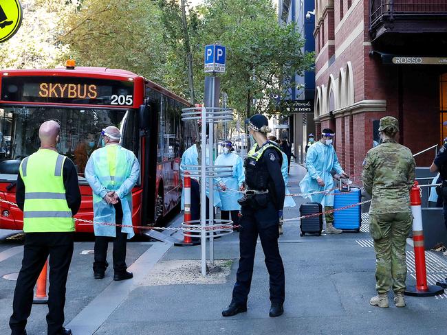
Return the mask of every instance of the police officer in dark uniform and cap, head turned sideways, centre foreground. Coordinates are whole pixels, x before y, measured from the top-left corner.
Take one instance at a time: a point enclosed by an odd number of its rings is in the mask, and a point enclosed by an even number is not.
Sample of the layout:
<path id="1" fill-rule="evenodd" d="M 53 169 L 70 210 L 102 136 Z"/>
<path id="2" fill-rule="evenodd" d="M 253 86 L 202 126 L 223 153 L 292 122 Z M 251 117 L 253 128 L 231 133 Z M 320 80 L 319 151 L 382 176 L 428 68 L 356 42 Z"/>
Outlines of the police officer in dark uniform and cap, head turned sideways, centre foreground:
<path id="1" fill-rule="evenodd" d="M 250 135 L 256 143 L 244 162 L 246 168 L 246 197 L 241 203 L 239 233 L 240 259 L 232 301 L 223 316 L 247 311 L 248 292 L 253 274 L 254 251 L 257 238 L 265 255 L 270 275 L 270 316 L 283 314 L 285 298 L 284 267 L 279 254 L 279 218 L 283 216 L 285 186 L 281 174 L 281 150 L 267 139 L 268 120 L 261 114 L 248 120 Z"/>

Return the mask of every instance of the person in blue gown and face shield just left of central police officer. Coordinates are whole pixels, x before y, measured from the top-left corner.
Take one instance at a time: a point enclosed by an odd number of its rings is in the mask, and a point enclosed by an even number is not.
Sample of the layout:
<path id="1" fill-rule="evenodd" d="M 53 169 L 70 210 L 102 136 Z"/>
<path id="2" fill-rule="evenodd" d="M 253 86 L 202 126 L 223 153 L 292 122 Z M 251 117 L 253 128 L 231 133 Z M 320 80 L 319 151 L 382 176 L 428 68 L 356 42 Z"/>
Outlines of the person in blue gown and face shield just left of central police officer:
<path id="1" fill-rule="evenodd" d="M 233 153 L 235 149 L 231 141 L 223 143 L 222 153 L 219 154 L 215 161 L 215 165 L 231 165 L 233 167 L 233 174 L 230 177 L 216 178 L 219 186 L 219 196 L 221 200 L 221 219 L 231 220 L 234 226 L 239 226 L 239 210 L 241 205 L 237 200 L 242 198 L 242 194 L 238 191 L 243 190 L 243 181 L 245 176 L 243 174 L 243 161 L 241 157 Z M 235 228 L 239 230 L 239 228 Z"/>

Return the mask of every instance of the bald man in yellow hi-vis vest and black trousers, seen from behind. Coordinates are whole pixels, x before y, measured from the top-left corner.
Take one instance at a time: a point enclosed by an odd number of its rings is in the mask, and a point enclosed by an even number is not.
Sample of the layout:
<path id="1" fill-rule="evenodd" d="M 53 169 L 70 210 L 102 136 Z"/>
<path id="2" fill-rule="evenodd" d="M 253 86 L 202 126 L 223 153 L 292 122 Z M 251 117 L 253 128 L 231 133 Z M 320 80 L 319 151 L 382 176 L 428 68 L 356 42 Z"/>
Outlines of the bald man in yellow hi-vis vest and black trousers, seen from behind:
<path id="1" fill-rule="evenodd" d="M 21 161 L 17 176 L 16 200 L 23 211 L 25 245 L 12 303 L 12 334 L 26 334 L 33 289 L 48 255 L 48 335 L 72 334 L 63 327 L 65 284 L 73 255 L 73 216 L 81 198 L 74 163 L 56 150 L 60 136 L 60 122 L 44 122 L 39 128 L 41 148 Z"/>

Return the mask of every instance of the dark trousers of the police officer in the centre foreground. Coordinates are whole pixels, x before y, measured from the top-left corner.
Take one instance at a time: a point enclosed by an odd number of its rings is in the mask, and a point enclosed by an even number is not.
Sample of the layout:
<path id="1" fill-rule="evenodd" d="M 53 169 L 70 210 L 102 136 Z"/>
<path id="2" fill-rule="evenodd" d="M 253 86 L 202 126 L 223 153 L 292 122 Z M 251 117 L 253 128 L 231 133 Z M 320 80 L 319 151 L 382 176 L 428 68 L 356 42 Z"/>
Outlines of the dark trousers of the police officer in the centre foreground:
<path id="1" fill-rule="evenodd" d="M 285 299 L 285 277 L 283 259 L 279 254 L 279 218 L 272 203 L 264 209 L 242 207 L 239 220 L 239 268 L 233 288 L 232 302 L 244 305 L 252 284 L 254 252 L 258 235 L 265 255 L 265 266 L 270 276 L 270 301 L 283 303 Z"/>

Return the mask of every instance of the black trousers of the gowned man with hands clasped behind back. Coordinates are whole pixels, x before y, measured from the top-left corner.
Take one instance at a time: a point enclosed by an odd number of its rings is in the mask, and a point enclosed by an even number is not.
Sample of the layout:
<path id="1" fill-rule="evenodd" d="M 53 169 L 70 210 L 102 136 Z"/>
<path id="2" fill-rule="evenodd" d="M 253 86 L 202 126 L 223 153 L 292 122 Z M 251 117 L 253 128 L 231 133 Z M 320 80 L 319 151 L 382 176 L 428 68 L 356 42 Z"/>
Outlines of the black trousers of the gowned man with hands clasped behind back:
<path id="1" fill-rule="evenodd" d="M 116 224 L 122 224 L 122 207 L 121 202 L 118 201 L 115 207 Z M 93 270 L 96 273 L 104 273 L 107 266 L 107 248 L 109 242 L 113 241 L 113 270 L 116 274 L 126 272 L 126 247 L 127 247 L 127 233 L 121 232 L 121 227 L 116 227 L 116 237 L 96 236 L 95 237 L 95 262 Z"/>

